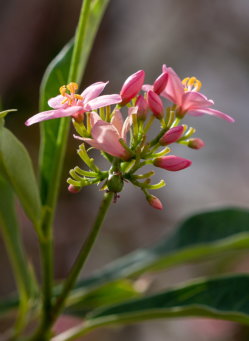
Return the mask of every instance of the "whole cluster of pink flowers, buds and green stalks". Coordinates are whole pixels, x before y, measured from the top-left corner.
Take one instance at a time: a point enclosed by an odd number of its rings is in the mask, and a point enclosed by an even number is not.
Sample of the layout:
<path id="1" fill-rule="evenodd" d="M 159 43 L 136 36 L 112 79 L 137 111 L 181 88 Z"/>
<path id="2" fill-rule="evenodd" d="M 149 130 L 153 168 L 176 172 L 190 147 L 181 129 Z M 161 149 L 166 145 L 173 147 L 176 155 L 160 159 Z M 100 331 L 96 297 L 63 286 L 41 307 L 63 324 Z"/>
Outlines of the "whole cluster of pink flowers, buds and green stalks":
<path id="1" fill-rule="evenodd" d="M 198 92 L 201 82 L 195 77 L 187 77 L 181 81 L 172 68 L 163 65 L 162 74 L 153 85 L 143 85 L 143 83 L 144 71 L 142 70 L 126 79 L 120 95 L 99 96 L 108 82 L 94 83 L 80 95 L 75 94 L 78 85 L 69 83 L 66 87 L 64 85 L 60 88 L 60 95 L 48 101 L 53 110 L 36 114 L 27 120 L 26 125 L 31 125 L 52 118 L 72 116 L 74 127 L 80 135 L 74 137 L 87 143 L 91 148 L 99 149 L 110 161 L 110 169 L 101 171 L 89 157 L 82 143 L 78 154 L 90 167 L 90 171 L 87 172 L 79 167 L 70 170 L 69 173 L 73 178 L 67 180 L 70 192 L 76 193 L 83 186 L 99 184 L 105 180 L 100 190 L 113 192 L 113 202 L 116 202 L 119 197 L 117 193 L 122 191 L 124 182 L 131 182 L 135 187 L 141 188 L 151 206 L 162 209 L 160 201 L 147 190 L 158 189 L 164 186 L 165 182 L 161 180 L 157 184 L 150 184 L 151 176 L 155 174 L 153 170 L 146 174 L 135 173 L 147 164 L 171 172 L 191 165 L 190 160 L 166 155 L 171 151 L 168 146 L 173 143 L 184 144 L 192 149 L 204 147 L 204 142 L 200 138 L 190 138 L 195 131 L 194 128 L 190 127 L 187 130 L 186 124 L 179 125 L 186 114 L 193 116 L 210 114 L 234 122 L 230 116 L 209 108 L 214 102 Z M 70 95 L 66 92 L 67 89 Z M 144 91 L 144 95 L 139 95 L 141 90 Z M 159 96 L 173 102 L 172 107 L 166 108 L 166 113 Z M 111 104 L 116 104 L 112 112 Z M 121 107 L 124 106 L 128 107 L 125 120 L 120 112 Z M 147 120 L 149 110 L 151 115 Z M 161 123 L 160 131 L 153 140 L 147 142 L 146 134 L 155 118 Z M 138 181 L 141 179 L 145 180 Z"/>

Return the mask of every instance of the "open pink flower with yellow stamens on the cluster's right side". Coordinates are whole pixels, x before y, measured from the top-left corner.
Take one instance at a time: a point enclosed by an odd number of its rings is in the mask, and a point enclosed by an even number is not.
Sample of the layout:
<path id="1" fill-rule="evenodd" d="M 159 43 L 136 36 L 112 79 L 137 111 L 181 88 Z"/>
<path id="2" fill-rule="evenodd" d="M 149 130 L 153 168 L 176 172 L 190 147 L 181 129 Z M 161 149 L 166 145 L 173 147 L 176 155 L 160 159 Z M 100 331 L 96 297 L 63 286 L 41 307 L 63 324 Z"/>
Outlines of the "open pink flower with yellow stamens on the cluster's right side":
<path id="1" fill-rule="evenodd" d="M 196 77 L 187 77 L 183 81 L 177 76 L 172 68 L 167 68 L 164 64 L 162 72 L 168 74 L 167 85 L 160 93 L 161 96 L 167 98 L 177 104 L 176 116 L 183 118 L 185 114 L 192 116 L 201 116 L 204 114 L 214 115 L 234 122 L 234 119 L 218 110 L 209 108 L 214 104 L 212 100 L 208 100 L 202 93 L 197 92 L 201 88 L 201 82 Z M 194 88 L 192 89 L 192 87 Z M 152 90 L 152 85 L 143 85 L 142 90 Z"/>

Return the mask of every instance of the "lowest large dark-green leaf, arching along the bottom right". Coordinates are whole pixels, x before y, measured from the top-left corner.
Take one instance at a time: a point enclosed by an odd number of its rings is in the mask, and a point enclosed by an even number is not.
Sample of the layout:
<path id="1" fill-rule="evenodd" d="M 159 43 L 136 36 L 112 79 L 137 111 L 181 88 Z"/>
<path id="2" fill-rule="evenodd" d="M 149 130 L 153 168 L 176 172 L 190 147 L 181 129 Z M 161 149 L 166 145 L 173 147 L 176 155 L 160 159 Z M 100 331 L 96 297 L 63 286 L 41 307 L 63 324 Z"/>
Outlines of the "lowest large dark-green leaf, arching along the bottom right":
<path id="1" fill-rule="evenodd" d="M 87 321 L 51 341 L 69 341 L 92 329 L 168 317 L 203 316 L 249 326 L 249 275 L 197 279 L 149 297 L 96 309 Z"/>

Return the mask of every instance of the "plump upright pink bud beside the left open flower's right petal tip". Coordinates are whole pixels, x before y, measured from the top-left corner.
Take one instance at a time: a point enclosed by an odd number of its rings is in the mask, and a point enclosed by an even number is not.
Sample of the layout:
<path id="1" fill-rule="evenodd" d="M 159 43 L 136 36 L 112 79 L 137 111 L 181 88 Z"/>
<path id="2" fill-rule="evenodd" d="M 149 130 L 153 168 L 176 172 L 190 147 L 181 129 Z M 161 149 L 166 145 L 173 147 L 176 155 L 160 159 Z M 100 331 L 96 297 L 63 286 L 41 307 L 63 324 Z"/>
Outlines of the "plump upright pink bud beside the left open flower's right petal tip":
<path id="1" fill-rule="evenodd" d="M 133 75 L 129 76 L 124 82 L 120 95 L 122 97 L 122 102 L 119 103 L 120 106 L 124 106 L 129 103 L 134 97 L 140 92 L 144 81 L 144 71 L 139 70 Z"/>

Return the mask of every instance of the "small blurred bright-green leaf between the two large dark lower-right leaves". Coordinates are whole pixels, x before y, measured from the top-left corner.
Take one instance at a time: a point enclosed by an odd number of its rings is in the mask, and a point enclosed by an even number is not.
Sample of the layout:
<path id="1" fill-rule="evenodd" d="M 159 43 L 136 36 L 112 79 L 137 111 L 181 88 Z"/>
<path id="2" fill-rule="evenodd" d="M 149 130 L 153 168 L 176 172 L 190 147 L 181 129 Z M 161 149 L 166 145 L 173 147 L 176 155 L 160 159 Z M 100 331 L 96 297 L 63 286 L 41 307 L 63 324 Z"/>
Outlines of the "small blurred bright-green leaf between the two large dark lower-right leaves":
<path id="1" fill-rule="evenodd" d="M 133 281 L 127 279 L 108 283 L 87 294 L 84 290 L 78 289 L 67 299 L 65 313 L 84 317 L 88 311 L 97 307 L 137 295 L 138 292 L 134 290 Z"/>

